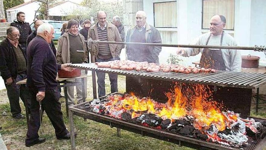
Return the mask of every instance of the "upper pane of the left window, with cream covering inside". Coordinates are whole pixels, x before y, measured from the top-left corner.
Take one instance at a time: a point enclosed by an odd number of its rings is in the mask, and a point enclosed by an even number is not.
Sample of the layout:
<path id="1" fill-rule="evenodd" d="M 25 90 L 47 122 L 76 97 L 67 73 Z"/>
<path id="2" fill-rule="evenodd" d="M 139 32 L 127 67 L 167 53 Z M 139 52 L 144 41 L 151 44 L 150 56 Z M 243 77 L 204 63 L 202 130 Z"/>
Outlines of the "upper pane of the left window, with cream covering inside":
<path id="1" fill-rule="evenodd" d="M 177 2 L 154 3 L 154 27 L 177 28 Z"/>

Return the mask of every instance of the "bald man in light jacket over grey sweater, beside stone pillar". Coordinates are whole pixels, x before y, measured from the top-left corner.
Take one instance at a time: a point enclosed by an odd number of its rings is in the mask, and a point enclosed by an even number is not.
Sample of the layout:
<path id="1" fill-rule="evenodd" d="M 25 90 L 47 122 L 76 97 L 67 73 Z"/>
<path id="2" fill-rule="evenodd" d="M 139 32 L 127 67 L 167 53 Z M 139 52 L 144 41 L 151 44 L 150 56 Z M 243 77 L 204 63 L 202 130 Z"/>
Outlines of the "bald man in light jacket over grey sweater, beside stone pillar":
<path id="1" fill-rule="evenodd" d="M 146 13 L 136 13 L 136 25 L 131 27 L 126 36 L 126 42 L 162 43 L 159 31 L 146 23 Z M 126 45 L 126 54 L 129 60 L 136 62 L 154 62 L 159 64 L 161 46 Z"/>

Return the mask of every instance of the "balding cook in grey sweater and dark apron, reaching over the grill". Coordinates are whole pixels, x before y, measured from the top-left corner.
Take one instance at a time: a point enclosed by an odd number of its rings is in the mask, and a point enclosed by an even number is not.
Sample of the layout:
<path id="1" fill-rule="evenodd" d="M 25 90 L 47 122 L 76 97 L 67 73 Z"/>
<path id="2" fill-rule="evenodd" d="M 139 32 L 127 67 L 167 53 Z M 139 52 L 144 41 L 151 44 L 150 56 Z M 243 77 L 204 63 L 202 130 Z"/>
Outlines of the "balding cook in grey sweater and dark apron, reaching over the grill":
<path id="1" fill-rule="evenodd" d="M 194 45 L 237 46 L 234 38 L 225 33 L 226 19 L 223 15 L 214 15 L 210 20 L 210 32 L 200 35 Z M 189 57 L 201 52 L 200 67 L 226 71 L 241 71 L 239 50 L 209 48 L 179 48 L 177 54 Z"/>

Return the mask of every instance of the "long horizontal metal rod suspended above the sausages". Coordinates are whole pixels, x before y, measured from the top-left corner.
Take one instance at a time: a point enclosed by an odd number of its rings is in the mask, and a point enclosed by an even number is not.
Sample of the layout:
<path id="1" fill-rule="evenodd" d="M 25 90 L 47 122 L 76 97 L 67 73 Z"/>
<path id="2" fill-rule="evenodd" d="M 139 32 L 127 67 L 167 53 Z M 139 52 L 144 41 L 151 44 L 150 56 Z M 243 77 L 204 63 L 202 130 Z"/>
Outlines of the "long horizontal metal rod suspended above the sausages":
<path id="1" fill-rule="evenodd" d="M 85 41 L 87 42 L 87 41 Z M 240 50 L 254 50 L 263 52 L 266 51 L 266 46 L 215 46 L 215 45 L 177 45 L 177 44 L 161 44 L 161 43 L 140 43 L 140 42 L 113 42 L 113 41 L 99 41 L 101 44 L 125 44 L 125 45 L 147 45 L 147 46 L 165 46 L 165 47 L 184 47 L 184 48 L 218 48 L 218 49 L 240 49 Z"/>

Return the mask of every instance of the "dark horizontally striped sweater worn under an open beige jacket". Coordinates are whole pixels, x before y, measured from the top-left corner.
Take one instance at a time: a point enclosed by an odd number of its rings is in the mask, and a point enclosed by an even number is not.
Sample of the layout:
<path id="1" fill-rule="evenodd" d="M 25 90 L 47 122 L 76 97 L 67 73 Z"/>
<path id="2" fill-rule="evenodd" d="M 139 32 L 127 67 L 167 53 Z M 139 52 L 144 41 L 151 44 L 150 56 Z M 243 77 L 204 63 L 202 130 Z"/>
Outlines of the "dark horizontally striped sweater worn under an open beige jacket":
<path id="1" fill-rule="evenodd" d="M 107 41 L 107 30 L 104 28 L 97 27 L 98 36 L 100 41 Z M 98 57 L 102 59 L 109 59 L 112 57 L 109 44 L 99 44 Z"/>

